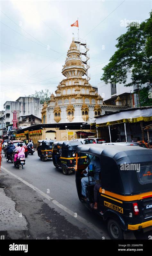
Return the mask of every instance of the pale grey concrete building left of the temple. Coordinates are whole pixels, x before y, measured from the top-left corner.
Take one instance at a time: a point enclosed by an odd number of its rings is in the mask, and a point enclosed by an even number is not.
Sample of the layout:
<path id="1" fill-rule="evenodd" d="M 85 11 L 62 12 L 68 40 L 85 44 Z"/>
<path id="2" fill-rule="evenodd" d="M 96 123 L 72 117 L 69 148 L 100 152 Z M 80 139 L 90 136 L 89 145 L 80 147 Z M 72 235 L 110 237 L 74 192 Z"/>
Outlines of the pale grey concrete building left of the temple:
<path id="1" fill-rule="evenodd" d="M 6 101 L 4 109 L 4 124 L 8 126 L 13 123 L 14 110 L 17 111 L 17 118 L 31 114 L 41 118 L 42 104 L 40 104 L 39 98 L 19 97 L 16 101 Z"/>

